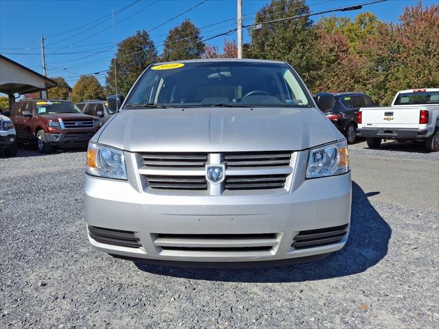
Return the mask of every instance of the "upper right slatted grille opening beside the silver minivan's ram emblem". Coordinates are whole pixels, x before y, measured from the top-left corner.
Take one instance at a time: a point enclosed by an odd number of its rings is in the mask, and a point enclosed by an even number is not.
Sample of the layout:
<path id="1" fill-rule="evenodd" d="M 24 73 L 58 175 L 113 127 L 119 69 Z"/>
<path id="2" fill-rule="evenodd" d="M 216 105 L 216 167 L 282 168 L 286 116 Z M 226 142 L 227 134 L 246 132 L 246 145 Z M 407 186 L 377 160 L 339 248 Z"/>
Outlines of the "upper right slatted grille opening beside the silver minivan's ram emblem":
<path id="1" fill-rule="evenodd" d="M 287 166 L 291 151 L 226 153 L 224 162 L 228 167 Z"/>

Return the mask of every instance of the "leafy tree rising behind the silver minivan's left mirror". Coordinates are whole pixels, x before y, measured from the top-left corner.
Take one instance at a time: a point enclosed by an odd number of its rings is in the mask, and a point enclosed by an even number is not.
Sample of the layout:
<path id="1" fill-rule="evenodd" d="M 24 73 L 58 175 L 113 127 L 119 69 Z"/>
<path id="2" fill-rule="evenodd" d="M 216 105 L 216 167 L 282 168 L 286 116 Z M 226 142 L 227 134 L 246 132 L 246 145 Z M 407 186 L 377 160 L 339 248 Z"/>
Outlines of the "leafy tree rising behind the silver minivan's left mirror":
<path id="1" fill-rule="evenodd" d="M 106 92 L 116 93 L 117 85 L 117 93 L 126 95 L 139 75 L 156 57 L 154 42 L 145 30 L 139 30 L 121 41 L 106 76 Z"/>

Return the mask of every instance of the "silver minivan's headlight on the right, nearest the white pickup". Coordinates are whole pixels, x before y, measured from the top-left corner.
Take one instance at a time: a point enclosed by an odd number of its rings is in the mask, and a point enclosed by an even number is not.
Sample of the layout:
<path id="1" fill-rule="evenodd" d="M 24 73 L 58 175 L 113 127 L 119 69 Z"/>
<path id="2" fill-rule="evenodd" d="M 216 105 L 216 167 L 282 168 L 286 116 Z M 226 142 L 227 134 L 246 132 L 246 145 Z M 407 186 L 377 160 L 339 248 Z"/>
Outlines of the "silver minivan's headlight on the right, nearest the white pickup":
<path id="1" fill-rule="evenodd" d="M 340 175 L 348 171 L 349 158 L 346 141 L 309 150 L 307 178 Z"/>

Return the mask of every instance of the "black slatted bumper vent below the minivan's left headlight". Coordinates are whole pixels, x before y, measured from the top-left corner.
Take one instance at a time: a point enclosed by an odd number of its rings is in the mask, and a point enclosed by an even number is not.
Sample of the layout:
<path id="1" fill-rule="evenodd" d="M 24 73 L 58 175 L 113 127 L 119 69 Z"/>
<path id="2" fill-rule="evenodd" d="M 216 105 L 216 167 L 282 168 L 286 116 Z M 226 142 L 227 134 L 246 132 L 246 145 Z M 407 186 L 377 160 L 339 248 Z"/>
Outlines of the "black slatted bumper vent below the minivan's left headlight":
<path id="1" fill-rule="evenodd" d="M 121 247 L 141 247 L 140 239 L 132 231 L 112 230 L 110 228 L 98 228 L 88 226 L 88 234 L 91 239 L 108 245 L 119 245 Z"/>

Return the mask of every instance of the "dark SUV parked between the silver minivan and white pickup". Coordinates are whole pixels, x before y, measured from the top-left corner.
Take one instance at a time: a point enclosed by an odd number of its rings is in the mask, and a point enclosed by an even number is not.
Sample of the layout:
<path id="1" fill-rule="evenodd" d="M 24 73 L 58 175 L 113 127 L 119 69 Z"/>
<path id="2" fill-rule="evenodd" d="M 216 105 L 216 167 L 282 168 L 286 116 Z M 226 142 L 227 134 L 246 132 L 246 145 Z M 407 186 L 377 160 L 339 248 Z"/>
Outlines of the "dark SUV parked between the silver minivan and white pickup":
<path id="1" fill-rule="evenodd" d="M 319 95 L 318 93 L 316 97 Z M 327 118 L 346 136 L 349 144 L 355 143 L 357 130 L 357 114 L 359 108 L 376 106 L 364 93 L 335 93 L 335 105 L 324 110 Z"/>

